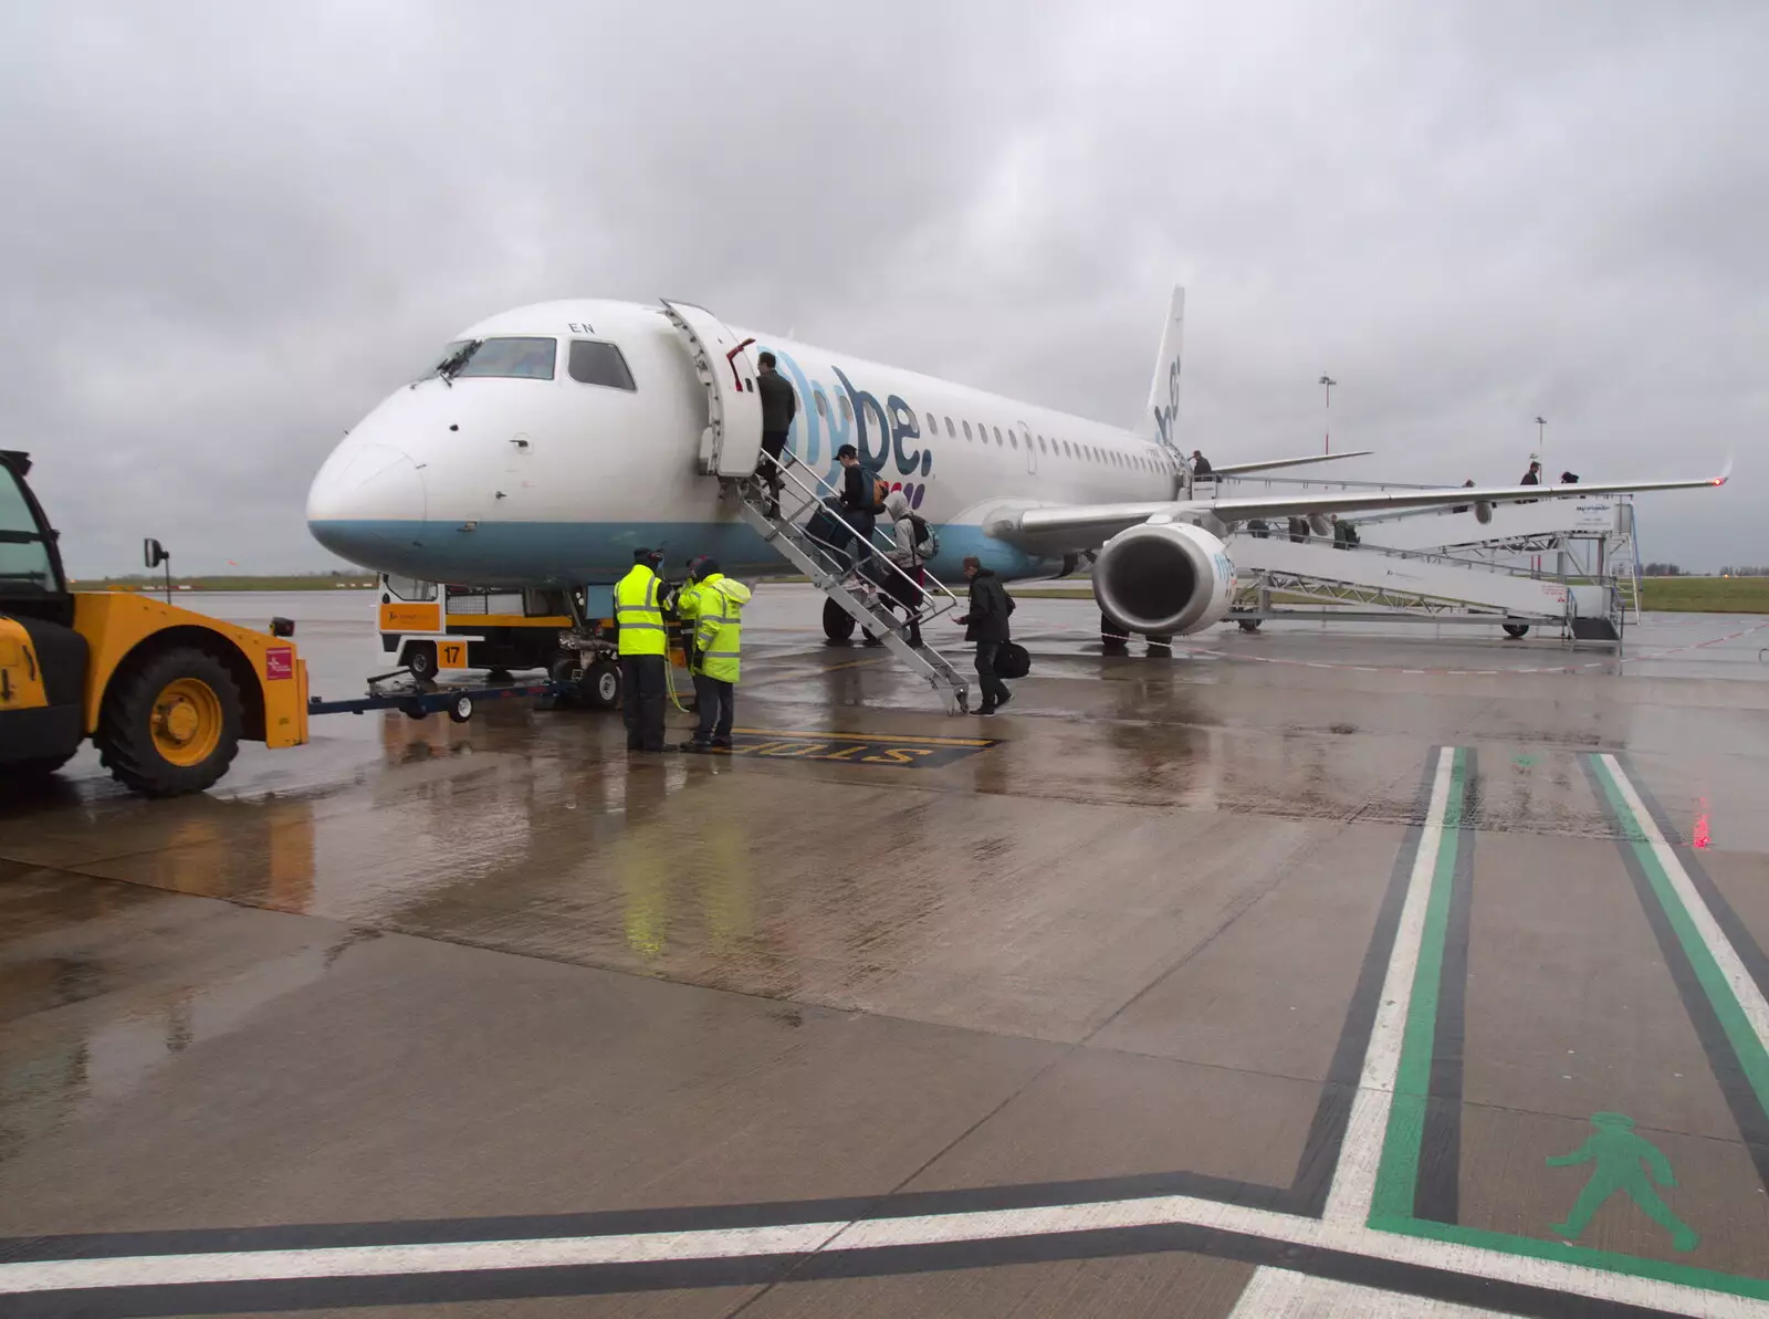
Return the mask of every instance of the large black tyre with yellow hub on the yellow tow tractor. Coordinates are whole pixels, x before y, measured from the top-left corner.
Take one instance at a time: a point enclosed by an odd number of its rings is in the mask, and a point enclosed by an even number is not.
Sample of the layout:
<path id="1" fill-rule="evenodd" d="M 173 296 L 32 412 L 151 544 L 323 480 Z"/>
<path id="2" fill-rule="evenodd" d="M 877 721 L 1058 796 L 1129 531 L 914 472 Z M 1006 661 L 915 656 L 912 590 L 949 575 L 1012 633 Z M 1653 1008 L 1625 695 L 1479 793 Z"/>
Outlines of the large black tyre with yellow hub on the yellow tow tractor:
<path id="1" fill-rule="evenodd" d="M 239 753 L 241 705 L 226 665 L 180 645 L 111 679 L 92 741 L 104 767 L 136 792 L 202 792 Z"/>

